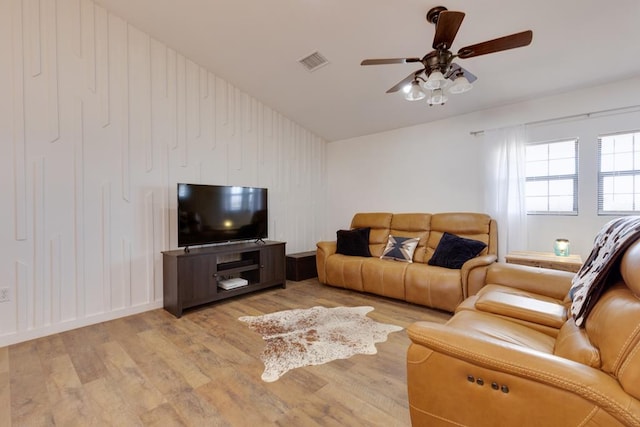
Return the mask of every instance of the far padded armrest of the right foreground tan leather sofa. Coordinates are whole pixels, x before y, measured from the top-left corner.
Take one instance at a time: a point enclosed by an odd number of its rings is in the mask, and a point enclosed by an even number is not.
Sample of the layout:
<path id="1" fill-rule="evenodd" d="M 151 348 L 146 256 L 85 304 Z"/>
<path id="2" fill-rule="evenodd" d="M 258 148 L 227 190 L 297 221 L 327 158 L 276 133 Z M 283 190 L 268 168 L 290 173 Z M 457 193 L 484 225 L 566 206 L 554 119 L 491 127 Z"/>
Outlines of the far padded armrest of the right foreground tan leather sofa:
<path id="1" fill-rule="evenodd" d="M 503 285 L 563 301 L 569 294 L 575 273 L 495 263 L 487 269 L 486 284 Z"/>

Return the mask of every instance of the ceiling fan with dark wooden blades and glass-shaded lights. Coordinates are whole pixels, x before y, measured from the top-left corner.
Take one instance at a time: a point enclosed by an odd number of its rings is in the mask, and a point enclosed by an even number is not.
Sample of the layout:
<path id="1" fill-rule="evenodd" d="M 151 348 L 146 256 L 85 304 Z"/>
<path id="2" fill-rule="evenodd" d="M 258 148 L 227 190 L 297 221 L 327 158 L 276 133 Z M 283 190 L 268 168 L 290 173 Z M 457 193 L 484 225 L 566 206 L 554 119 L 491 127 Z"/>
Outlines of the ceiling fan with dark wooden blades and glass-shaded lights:
<path id="1" fill-rule="evenodd" d="M 444 6 L 437 6 L 427 12 L 427 21 L 436 26 L 431 52 L 422 58 L 388 58 L 365 59 L 360 65 L 409 64 L 418 62 L 422 68 L 409 74 L 405 79 L 393 86 L 387 93 L 405 90 L 405 98 L 418 101 L 427 98 L 429 105 L 444 104 L 447 101 L 445 89 L 449 93 L 467 92 L 477 77 L 465 70 L 453 60 L 466 59 L 488 53 L 500 52 L 517 47 L 528 46 L 533 38 L 531 30 L 511 34 L 482 43 L 465 46 L 457 53 L 449 49 L 464 19 L 464 12 L 449 11 Z M 425 92 L 425 89 L 427 92 Z"/>

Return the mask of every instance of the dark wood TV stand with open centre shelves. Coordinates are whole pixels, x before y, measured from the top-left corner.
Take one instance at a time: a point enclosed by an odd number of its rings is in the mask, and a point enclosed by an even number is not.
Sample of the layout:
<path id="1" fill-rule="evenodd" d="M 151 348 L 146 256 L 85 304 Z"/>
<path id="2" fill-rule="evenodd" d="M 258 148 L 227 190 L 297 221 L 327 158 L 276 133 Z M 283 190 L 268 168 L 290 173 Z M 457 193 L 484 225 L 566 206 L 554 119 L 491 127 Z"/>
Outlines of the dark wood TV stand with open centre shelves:
<path id="1" fill-rule="evenodd" d="M 164 308 L 176 317 L 186 308 L 248 292 L 286 288 L 285 243 L 230 243 L 162 252 Z M 240 277 L 248 284 L 225 290 L 219 281 Z"/>

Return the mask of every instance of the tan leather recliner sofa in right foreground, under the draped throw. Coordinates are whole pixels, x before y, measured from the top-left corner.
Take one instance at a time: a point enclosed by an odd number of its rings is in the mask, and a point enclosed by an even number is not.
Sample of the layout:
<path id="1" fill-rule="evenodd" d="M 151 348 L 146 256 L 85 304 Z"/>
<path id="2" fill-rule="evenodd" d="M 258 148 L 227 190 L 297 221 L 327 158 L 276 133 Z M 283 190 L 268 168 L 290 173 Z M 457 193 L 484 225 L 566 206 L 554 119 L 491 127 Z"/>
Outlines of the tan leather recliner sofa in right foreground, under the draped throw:
<path id="1" fill-rule="evenodd" d="M 411 325 L 413 425 L 640 426 L 640 240 L 584 328 L 567 314 L 571 277 L 495 263 L 446 324 Z"/>

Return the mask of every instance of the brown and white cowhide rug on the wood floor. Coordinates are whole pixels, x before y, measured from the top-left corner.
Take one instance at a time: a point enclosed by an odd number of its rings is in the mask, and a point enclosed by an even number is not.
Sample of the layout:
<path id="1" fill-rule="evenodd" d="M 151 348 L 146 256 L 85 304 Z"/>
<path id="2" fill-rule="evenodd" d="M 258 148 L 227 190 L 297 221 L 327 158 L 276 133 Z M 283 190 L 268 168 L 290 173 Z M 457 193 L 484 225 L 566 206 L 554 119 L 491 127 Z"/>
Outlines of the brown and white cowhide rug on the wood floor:
<path id="1" fill-rule="evenodd" d="M 320 365 L 354 354 L 376 354 L 375 343 L 403 328 L 378 323 L 366 314 L 373 307 L 313 307 L 243 316 L 238 320 L 260 333 L 266 342 L 261 359 L 262 380 L 273 382 L 287 371 Z"/>

